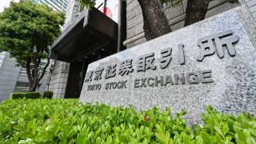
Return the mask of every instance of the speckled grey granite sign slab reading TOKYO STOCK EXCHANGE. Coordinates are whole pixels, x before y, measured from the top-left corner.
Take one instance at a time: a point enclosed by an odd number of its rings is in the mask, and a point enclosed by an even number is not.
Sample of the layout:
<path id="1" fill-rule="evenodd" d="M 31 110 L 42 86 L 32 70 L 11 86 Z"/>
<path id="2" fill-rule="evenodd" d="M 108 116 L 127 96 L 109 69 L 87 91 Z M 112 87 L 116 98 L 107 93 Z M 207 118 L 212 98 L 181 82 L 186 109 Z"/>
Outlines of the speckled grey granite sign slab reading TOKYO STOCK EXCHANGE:
<path id="1" fill-rule="evenodd" d="M 256 51 L 253 25 L 254 20 L 250 18 L 249 12 L 241 6 L 93 62 L 88 67 L 80 101 L 112 106 L 131 104 L 136 110 L 154 106 L 165 109 L 170 106 L 173 113 L 186 110 L 189 123 L 200 122 L 201 114 L 205 112 L 204 107 L 208 105 L 229 114 L 242 111 L 255 114 Z M 227 30 L 233 34 L 217 38 L 216 34 Z M 208 43 L 198 41 L 214 36 L 216 38 L 210 39 Z M 236 36 L 239 40 L 234 38 Z M 203 46 L 212 43 L 216 48 L 218 39 L 221 39 L 219 43 L 222 44 L 224 57 L 214 49 L 214 54 L 205 56 L 199 62 L 197 59 Z M 231 49 L 228 53 L 225 42 L 233 42 L 228 48 L 234 48 L 235 54 Z M 184 45 L 183 51 L 178 49 L 180 44 Z M 164 51 L 168 48 L 172 48 L 170 63 L 166 63 L 170 57 Z M 207 50 L 213 49 L 206 48 L 206 53 L 210 53 Z M 152 53 L 153 57 L 143 59 L 143 55 Z M 164 56 L 166 61 L 162 58 Z M 134 70 L 122 76 L 118 74 L 120 65 L 128 59 L 133 60 Z M 152 65 L 143 67 L 143 62 Z M 167 64 L 165 68 L 164 64 Z M 98 80 L 94 80 L 97 79 L 95 71 L 100 70 L 98 68 L 103 68 L 102 74 L 97 72 L 102 79 L 98 77 Z M 115 75 L 106 78 L 106 70 L 115 70 Z M 89 72 L 92 71 L 90 77 Z"/>

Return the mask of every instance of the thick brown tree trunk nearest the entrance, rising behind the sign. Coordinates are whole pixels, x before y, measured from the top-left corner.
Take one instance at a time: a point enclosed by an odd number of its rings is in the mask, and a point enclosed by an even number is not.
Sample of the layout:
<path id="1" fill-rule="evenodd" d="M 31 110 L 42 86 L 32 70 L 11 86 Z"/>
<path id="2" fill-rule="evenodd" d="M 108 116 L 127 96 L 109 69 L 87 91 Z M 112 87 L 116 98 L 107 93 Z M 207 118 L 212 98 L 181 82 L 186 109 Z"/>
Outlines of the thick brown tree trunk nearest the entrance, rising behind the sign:
<path id="1" fill-rule="evenodd" d="M 159 0 L 138 0 L 142 7 L 146 40 L 170 33 L 170 26 Z"/>

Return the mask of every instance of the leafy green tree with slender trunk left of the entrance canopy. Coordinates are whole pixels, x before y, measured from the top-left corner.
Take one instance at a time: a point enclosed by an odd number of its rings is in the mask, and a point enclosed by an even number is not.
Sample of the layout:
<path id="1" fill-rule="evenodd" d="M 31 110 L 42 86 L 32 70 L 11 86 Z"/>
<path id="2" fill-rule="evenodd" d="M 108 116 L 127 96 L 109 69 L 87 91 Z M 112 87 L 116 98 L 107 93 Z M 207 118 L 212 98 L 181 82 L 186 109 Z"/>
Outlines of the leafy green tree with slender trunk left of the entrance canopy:
<path id="1" fill-rule="evenodd" d="M 8 51 L 18 66 L 26 67 L 28 91 L 36 90 L 49 66 L 50 45 L 61 34 L 64 18 L 65 14 L 29 0 L 10 2 L 0 14 L 0 51 Z M 40 70 L 46 58 L 46 66 Z"/>

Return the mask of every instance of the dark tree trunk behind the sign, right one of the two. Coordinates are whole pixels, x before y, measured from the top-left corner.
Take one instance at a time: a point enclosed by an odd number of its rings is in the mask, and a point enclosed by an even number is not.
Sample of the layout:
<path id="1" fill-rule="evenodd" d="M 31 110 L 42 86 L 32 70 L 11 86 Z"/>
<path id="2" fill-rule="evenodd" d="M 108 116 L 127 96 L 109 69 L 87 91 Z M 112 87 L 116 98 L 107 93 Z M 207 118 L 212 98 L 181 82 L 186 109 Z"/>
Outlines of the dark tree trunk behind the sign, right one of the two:
<path id="1" fill-rule="evenodd" d="M 206 17 L 210 0 L 188 0 L 184 26 L 202 21 Z"/>

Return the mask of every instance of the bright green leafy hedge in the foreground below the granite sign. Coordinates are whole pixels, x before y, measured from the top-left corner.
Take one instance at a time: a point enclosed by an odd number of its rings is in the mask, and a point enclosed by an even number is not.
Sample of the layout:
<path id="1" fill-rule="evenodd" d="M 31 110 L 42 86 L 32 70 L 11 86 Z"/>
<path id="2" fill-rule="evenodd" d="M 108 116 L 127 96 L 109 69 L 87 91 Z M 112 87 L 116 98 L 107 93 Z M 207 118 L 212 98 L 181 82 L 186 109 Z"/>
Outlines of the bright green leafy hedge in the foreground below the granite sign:
<path id="1" fill-rule="evenodd" d="M 83 105 L 77 99 L 18 99 L 0 105 L 0 143 L 255 143 L 256 118 L 211 106 L 202 124 L 186 125 L 170 109 Z"/>

